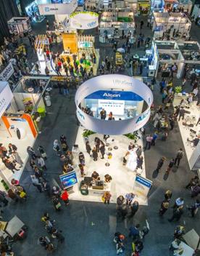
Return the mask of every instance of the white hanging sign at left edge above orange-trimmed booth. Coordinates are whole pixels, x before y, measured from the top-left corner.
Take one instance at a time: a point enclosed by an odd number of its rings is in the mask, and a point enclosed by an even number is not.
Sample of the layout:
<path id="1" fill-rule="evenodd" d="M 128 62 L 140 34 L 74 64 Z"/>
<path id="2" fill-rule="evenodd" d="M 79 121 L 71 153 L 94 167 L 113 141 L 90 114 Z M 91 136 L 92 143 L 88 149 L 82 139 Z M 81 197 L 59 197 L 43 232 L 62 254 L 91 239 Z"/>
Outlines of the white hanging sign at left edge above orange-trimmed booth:
<path id="1" fill-rule="evenodd" d="M 0 82 L 0 117 L 4 114 L 13 98 L 13 94 L 6 81 Z"/>

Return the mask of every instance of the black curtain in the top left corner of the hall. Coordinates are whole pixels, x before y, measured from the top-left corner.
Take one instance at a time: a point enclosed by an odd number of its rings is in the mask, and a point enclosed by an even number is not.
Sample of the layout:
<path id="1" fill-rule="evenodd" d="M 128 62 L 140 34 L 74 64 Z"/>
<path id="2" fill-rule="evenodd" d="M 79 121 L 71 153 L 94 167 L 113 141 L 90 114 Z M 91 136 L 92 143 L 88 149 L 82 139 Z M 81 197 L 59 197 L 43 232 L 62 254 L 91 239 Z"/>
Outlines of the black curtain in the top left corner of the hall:
<path id="1" fill-rule="evenodd" d="M 7 21 L 12 17 L 19 17 L 19 11 L 15 0 L 0 0 L 0 41 L 4 36 L 9 36 Z"/>

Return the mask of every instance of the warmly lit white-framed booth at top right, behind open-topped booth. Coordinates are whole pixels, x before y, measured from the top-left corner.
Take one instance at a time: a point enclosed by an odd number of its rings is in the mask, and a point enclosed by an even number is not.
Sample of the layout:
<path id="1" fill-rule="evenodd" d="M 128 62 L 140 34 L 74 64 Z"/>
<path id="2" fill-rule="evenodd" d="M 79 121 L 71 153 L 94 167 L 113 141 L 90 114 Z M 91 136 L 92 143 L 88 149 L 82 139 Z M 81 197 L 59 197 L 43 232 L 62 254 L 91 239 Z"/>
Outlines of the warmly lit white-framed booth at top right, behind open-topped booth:
<path id="1" fill-rule="evenodd" d="M 154 12 L 154 39 L 186 39 L 191 31 L 191 21 L 182 12 Z"/>

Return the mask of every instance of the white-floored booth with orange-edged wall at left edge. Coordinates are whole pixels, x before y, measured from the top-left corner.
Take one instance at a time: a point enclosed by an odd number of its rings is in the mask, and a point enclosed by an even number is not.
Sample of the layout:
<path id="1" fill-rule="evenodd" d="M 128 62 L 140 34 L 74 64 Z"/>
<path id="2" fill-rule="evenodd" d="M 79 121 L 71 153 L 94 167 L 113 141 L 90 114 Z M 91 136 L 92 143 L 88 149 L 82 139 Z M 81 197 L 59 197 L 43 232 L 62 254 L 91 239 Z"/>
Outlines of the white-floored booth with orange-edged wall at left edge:
<path id="1" fill-rule="evenodd" d="M 46 105 L 43 94 L 49 85 L 49 78 L 24 76 L 18 82 L 13 92 L 7 82 L 2 95 L 7 95 L 4 109 L 1 110 L 1 142 L 8 150 L 9 143 L 16 145 L 20 156 L 20 164 L 15 163 L 14 173 L 1 161 L 1 178 L 10 183 L 12 178 L 19 180 L 22 175 L 25 161 L 28 158 L 27 148 L 32 146 L 40 132 L 43 117 L 46 114 Z M 1 86 L 1 88 L 2 88 Z M 5 92 L 6 90 L 6 92 Z M 2 96 L 3 97 L 3 96 Z M 7 158 L 13 161 L 14 155 L 7 152 Z"/>

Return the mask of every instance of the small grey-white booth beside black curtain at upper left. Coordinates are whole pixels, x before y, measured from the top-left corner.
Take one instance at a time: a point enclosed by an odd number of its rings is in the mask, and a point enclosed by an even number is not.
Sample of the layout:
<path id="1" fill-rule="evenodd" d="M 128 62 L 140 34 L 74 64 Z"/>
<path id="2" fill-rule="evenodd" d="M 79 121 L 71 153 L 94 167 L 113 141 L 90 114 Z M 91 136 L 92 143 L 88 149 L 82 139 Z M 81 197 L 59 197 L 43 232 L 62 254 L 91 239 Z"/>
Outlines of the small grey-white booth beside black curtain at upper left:
<path id="1" fill-rule="evenodd" d="M 12 17 L 8 22 L 9 33 L 20 35 L 22 33 L 28 34 L 32 31 L 29 17 Z"/>

